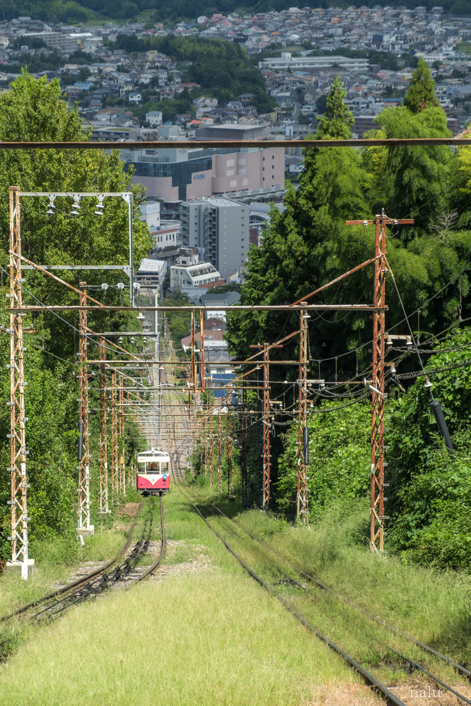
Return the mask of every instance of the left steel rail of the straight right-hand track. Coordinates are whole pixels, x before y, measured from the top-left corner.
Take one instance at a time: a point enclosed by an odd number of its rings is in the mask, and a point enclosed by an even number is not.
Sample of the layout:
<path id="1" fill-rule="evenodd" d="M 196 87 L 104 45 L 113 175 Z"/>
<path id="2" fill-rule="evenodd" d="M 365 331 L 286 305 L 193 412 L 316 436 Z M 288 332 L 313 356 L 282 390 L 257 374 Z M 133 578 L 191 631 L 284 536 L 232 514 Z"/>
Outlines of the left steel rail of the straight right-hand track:
<path id="1" fill-rule="evenodd" d="M 172 467 L 172 474 L 173 474 L 173 467 Z M 364 676 L 364 678 L 366 678 L 366 680 L 369 681 L 369 683 L 371 683 L 373 686 L 376 686 L 376 688 L 378 688 L 388 699 L 390 699 L 390 701 L 393 702 L 393 704 L 395 704 L 395 706 L 405 706 L 405 703 L 403 701 L 401 701 L 397 696 L 395 696 L 395 694 L 393 694 L 386 686 L 384 686 L 384 684 L 382 684 L 380 681 L 378 681 L 378 679 L 376 679 L 372 674 L 370 674 L 369 671 L 364 669 L 364 667 L 362 667 L 361 664 L 358 664 L 358 662 L 356 662 L 352 657 L 350 657 L 350 655 L 347 654 L 347 652 L 342 650 L 341 647 L 338 647 L 338 645 L 335 645 L 335 642 L 333 642 L 332 640 L 329 640 L 329 638 L 327 638 L 326 635 L 323 635 L 323 633 L 321 633 L 319 630 L 317 630 L 317 628 L 315 628 L 313 625 L 311 625 L 311 623 L 309 623 L 309 621 L 307 621 L 306 618 L 304 618 L 296 609 L 294 609 L 294 607 L 290 603 L 288 603 L 284 598 L 282 598 L 277 593 L 275 593 L 275 591 L 273 591 L 272 587 L 270 587 L 268 585 L 268 583 L 266 583 L 249 566 L 247 566 L 247 564 L 243 561 L 243 559 L 229 546 L 229 544 L 227 544 L 227 542 L 219 534 L 219 532 L 217 532 L 217 530 L 215 530 L 214 527 L 212 527 L 210 525 L 208 520 L 206 520 L 206 518 L 203 517 L 203 514 L 198 510 L 196 505 L 191 501 L 191 498 L 186 496 L 186 493 L 184 493 L 181 490 L 181 488 L 177 485 L 177 481 L 176 481 L 175 477 L 174 477 L 174 482 L 175 482 L 175 486 L 177 487 L 177 489 L 179 490 L 181 495 L 183 495 L 184 498 L 186 498 L 186 500 L 189 501 L 189 503 L 191 503 L 191 505 L 193 505 L 193 508 L 196 510 L 196 512 L 201 517 L 203 522 L 205 522 L 205 524 L 208 525 L 210 530 L 212 530 L 215 533 L 215 535 L 220 539 L 222 544 L 225 545 L 226 549 L 232 554 L 232 556 L 234 556 L 237 559 L 237 561 L 239 561 L 240 565 L 247 571 L 247 573 L 249 573 L 249 575 L 251 575 L 252 578 L 254 578 L 254 580 L 256 580 L 256 582 L 258 582 L 258 584 L 260 584 L 263 588 L 265 588 L 266 591 L 268 593 L 270 593 L 272 596 L 277 598 L 280 601 L 280 603 L 282 603 L 285 606 L 285 608 L 287 608 L 290 611 L 290 613 L 292 613 L 294 616 L 296 616 L 298 618 L 298 620 L 306 628 L 308 628 L 308 630 L 311 630 L 311 632 L 314 633 L 314 635 L 316 635 L 320 640 L 325 642 L 326 645 L 328 645 L 328 647 L 330 647 L 331 650 L 333 650 L 334 652 L 337 652 L 337 654 L 339 654 L 340 657 L 345 659 L 345 661 L 348 664 L 350 664 L 356 671 L 358 671 L 359 674 L 362 674 L 362 676 Z"/>

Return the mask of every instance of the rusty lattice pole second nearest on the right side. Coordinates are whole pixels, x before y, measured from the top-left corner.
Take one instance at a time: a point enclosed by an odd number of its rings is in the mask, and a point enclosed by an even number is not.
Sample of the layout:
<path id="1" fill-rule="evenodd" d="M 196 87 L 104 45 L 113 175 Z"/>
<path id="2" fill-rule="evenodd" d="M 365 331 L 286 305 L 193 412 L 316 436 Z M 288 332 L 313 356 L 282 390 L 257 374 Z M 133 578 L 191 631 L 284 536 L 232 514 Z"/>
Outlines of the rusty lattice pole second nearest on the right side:
<path id="1" fill-rule="evenodd" d="M 302 301 L 302 304 L 307 302 Z M 306 309 L 300 312 L 299 329 L 299 398 L 298 398 L 298 477 L 297 477 L 297 517 L 303 525 L 307 522 L 307 469 L 304 463 L 303 429 L 306 426 L 306 388 L 307 388 L 307 317 Z"/>

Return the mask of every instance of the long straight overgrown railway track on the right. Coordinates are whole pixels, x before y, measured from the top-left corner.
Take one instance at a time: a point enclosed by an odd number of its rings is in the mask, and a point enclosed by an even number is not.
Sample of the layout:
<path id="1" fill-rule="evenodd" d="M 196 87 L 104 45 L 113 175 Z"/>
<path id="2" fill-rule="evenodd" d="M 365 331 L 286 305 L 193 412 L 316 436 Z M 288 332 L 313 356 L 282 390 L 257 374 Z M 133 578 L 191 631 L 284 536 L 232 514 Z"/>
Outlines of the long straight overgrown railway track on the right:
<path id="1" fill-rule="evenodd" d="M 422 674 L 422 676 L 433 680 L 440 688 L 444 688 L 448 690 L 448 692 L 453 693 L 458 697 L 460 702 L 471 704 L 471 701 L 465 695 L 453 688 L 449 683 L 446 683 L 446 681 L 443 681 L 443 678 L 434 674 L 431 669 L 427 669 L 427 666 L 429 666 L 427 659 L 434 662 L 435 666 L 441 662 L 448 668 L 451 667 L 453 671 L 459 673 L 460 676 L 471 678 L 471 671 L 466 669 L 465 666 L 453 662 L 453 660 L 437 650 L 434 650 L 432 647 L 429 647 L 429 645 L 424 645 L 424 643 L 390 626 L 385 621 L 381 621 L 380 618 L 369 614 L 368 611 L 364 611 L 364 609 L 354 602 L 346 599 L 341 594 L 338 594 L 338 592 L 333 591 L 311 575 L 306 574 L 299 569 L 299 567 L 294 566 L 288 558 L 278 554 L 277 551 L 266 544 L 266 542 L 263 542 L 262 539 L 259 539 L 242 527 L 242 525 L 239 525 L 239 523 L 234 522 L 232 518 L 225 515 L 220 508 L 217 508 L 217 505 L 209 503 L 199 494 L 194 493 L 194 491 L 189 491 L 188 488 L 186 488 L 186 492 L 184 492 L 181 488 L 181 483 L 178 482 L 178 480 L 181 479 L 181 473 L 179 474 L 179 479 L 177 479 L 177 474 L 175 473 L 180 462 L 179 450 L 177 448 L 175 448 L 173 456 L 172 473 L 174 474 L 175 486 L 177 486 L 179 492 L 193 506 L 196 513 L 201 517 L 201 520 L 217 535 L 232 556 L 239 561 L 241 566 L 259 585 L 278 599 L 306 628 L 325 642 L 336 654 L 339 654 L 340 657 L 342 657 L 347 664 L 352 666 L 355 671 L 361 674 L 371 686 L 381 691 L 390 702 L 395 704 L 395 706 L 404 706 L 403 701 L 400 700 L 390 688 L 384 683 L 381 683 L 374 674 L 371 674 L 371 671 L 365 669 L 365 667 L 360 664 L 361 659 L 354 659 L 351 654 L 337 644 L 337 642 L 339 642 L 338 638 L 335 638 L 336 641 L 333 642 L 332 639 L 324 634 L 325 630 L 321 632 L 321 630 L 318 630 L 311 622 L 312 618 L 309 617 L 309 606 L 312 607 L 314 604 L 317 604 L 321 594 L 328 597 L 325 611 L 327 616 L 332 619 L 332 625 L 336 626 L 337 633 L 340 637 L 340 644 L 343 642 L 343 636 L 347 635 L 347 633 L 362 635 L 364 636 L 364 640 L 368 641 L 370 644 L 376 645 L 384 658 L 393 659 L 399 669 L 404 669 L 404 671 L 408 673 L 414 672 Z M 248 543 L 250 546 L 248 546 Z M 234 544 L 237 545 L 237 548 L 234 547 Z M 255 571 L 253 566 L 249 566 L 248 561 L 244 561 L 244 558 L 241 556 L 241 554 L 244 554 L 244 550 L 247 550 L 249 556 L 252 557 L 251 563 L 253 563 L 254 556 L 256 556 L 254 545 L 261 547 L 263 551 L 263 562 L 266 565 L 263 570 L 257 569 L 257 571 Z M 267 558 L 267 552 L 270 558 Z M 261 575 L 261 573 L 263 575 Z M 294 592 L 294 597 L 287 597 L 287 591 L 290 593 Z M 302 596 L 301 600 L 299 600 L 299 596 Z M 300 606 L 297 606 L 296 603 L 300 604 Z M 339 609 L 339 603 L 347 605 L 349 609 L 348 614 L 345 613 L 344 609 Z M 361 618 L 360 621 L 359 618 Z M 359 622 L 362 624 L 358 624 Z M 381 628 L 378 628 L 378 626 L 381 626 Z M 378 635 L 378 631 L 385 633 L 386 637 L 383 634 Z M 390 644 L 391 642 L 393 642 L 393 645 Z M 399 645 L 398 642 L 400 643 Z M 407 642 L 412 645 L 409 650 L 401 647 L 401 645 L 404 643 L 407 644 Z M 346 649 L 348 650 L 348 647 Z M 414 655 L 413 657 L 410 656 L 411 649 Z M 415 654 L 416 652 L 418 654 Z M 424 653 L 427 654 L 424 655 Z M 427 666 L 425 666 L 424 662 Z"/>

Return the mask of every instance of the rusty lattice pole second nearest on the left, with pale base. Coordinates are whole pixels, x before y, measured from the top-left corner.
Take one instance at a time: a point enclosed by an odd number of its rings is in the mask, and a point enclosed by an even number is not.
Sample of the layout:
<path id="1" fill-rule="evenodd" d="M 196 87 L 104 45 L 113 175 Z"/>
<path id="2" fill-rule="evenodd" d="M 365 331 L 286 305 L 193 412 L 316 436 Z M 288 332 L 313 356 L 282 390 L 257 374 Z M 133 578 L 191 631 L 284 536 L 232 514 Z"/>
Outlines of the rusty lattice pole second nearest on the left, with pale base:
<path id="1" fill-rule="evenodd" d="M 87 284 L 80 282 L 81 306 L 87 306 Z M 80 333 L 79 343 L 79 402 L 78 419 L 81 423 L 83 437 L 83 453 L 78 460 L 78 534 L 93 534 L 93 525 L 90 525 L 90 453 L 88 449 L 88 371 L 87 371 L 87 310 L 81 309 L 78 318 Z M 80 443 L 80 440 L 79 440 Z"/>

